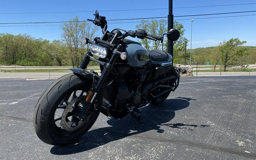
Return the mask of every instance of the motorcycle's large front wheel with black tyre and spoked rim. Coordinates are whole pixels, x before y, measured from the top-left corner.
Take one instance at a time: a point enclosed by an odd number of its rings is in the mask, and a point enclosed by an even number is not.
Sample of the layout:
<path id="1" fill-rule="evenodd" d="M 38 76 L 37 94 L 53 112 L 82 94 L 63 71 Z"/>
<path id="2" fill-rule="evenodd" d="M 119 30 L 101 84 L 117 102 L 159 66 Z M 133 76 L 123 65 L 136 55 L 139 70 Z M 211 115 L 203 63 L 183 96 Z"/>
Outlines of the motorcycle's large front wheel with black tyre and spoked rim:
<path id="1" fill-rule="evenodd" d="M 102 93 L 86 109 L 83 120 L 78 118 L 91 85 L 92 79 L 68 74 L 49 86 L 36 104 L 33 118 L 42 141 L 52 145 L 72 143 L 91 128 L 100 113 Z"/>

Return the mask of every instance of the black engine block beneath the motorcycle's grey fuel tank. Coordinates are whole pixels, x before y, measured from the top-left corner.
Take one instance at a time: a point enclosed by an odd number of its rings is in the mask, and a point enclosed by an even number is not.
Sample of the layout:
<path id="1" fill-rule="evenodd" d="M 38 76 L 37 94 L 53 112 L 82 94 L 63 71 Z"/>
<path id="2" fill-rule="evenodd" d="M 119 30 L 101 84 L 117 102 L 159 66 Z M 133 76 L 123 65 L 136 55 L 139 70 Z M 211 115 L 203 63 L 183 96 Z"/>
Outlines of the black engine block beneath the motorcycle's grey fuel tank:
<path id="1" fill-rule="evenodd" d="M 103 87 L 104 97 L 115 110 L 121 110 L 127 104 L 139 107 L 142 101 L 146 102 L 148 96 L 149 88 L 141 91 L 141 85 L 150 79 L 150 68 L 148 66 L 117 68 L 118 70 L 110 73 L 106 80 Z"/>

